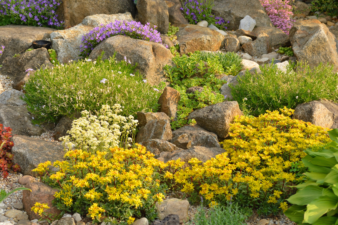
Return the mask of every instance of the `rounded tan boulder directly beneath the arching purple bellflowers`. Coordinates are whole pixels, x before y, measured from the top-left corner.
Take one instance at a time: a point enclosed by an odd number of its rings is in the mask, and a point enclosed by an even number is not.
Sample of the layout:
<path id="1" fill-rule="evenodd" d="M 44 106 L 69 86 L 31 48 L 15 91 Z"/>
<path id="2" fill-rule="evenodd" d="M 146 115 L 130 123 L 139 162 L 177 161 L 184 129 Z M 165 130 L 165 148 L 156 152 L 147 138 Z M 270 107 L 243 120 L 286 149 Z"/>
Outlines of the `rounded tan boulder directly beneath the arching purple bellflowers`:
<path id="1" fill-rule="evenodd" d="M 137 63 L 136 68 L 140 74 L 144 74 L 150 85 L 159 85 L 161 81 L 167 82 L 163 66 L 171 64 L 173 55 L 161 44 L 117 35 L 103 40 L 95 47 L 89 58 L 96 59 L 102 51 L 104 51 L 102 59 L 109 59 L 115 54 L 116 60 L 123 60 L 126 57 L 132 64 Z"/>

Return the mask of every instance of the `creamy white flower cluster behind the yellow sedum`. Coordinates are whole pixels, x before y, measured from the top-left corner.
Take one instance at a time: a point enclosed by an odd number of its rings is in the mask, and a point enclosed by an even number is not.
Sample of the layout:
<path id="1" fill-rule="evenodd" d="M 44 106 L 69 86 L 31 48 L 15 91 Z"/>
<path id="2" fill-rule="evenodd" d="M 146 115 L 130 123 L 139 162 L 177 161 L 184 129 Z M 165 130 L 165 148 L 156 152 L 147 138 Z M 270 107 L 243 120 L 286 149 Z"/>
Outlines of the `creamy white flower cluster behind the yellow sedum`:
<path id="1" fill-rule="evenodd" d="M 61 138 L 68 146 L 68 149 L 81 148 L 86 150 L 96 149 L 107 150 L 111 147 L 124 144 L 135 136 L 138 120 L 133 116 L 124 117 L 118 115 L 122 112 L 121 106 L 115 104 L 113 107 L 103 105 L 99 115 L 92 115 L 87 110 L 81 112 L 82 117 L 72 123 L 72 128 L 67 133 L 71 135 Z M 128 137 L 131 135 L 133 138 Z"/>

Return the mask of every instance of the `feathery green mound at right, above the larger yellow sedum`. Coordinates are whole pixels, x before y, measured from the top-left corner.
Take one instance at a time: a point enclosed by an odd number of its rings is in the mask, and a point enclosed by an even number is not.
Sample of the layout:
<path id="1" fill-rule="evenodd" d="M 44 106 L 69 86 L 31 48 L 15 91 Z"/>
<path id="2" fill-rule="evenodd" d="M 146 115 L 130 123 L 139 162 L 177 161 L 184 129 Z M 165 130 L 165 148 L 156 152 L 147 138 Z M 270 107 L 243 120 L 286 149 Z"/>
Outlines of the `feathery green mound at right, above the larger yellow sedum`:
<path id="1" fill-rule="evenodd" d="M 275 65 L 260 68 L 262 74 L 251 75 L 247 71 L 245 76 L 237 78 L 236 86 L 229 85 L 240 108 L 243 108 L 245 99 L 253 116 L 284 106 L 294 109 L 301 103 L 337 99 L 338 76 L 332 72 L 333 66 L 319 64 L 311 69 L 307 64 L 298 62 L 288 66 L 286 72 L 278 70 Z"/>

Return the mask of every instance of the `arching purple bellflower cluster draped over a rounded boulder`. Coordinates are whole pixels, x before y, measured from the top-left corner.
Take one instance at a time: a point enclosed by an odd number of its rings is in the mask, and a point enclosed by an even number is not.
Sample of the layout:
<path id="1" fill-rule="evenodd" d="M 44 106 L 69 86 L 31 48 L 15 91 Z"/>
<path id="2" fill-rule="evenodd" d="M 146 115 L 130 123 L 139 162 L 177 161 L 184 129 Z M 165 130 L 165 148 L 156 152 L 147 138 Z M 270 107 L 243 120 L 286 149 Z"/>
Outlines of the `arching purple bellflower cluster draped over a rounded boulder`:
<path id="1" fill-rule="evenodd" d="M 87 34 L 84 34 L 82 36 L 82 44 L 80 45 L 80 55 L 87 57 L 101 41 L 115 35 L 124 35 L 162 44 L 160 32 L 151 28 L 149 23 L 142 25 L 141 22 L 136 21 L 116 20 L 107 25 L 101 24 Z M 168 46 L 165 47 L 168 48 Z"/>

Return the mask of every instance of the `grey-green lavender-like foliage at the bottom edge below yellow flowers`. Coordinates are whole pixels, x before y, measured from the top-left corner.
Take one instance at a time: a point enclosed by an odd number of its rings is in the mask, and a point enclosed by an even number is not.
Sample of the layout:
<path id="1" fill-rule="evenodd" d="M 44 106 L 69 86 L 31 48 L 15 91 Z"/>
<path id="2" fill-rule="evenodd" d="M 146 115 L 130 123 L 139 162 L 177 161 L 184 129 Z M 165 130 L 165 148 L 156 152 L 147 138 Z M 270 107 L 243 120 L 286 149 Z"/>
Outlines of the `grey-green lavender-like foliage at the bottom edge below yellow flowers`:
<path id="1" fill-rule="evenodd" d="M 201 205 L 197 208 L 193 222 L 196 225 L 245 225 L 247 217 L 248 211 L 238 204 L 211 205 L 209 210 Z"/>

